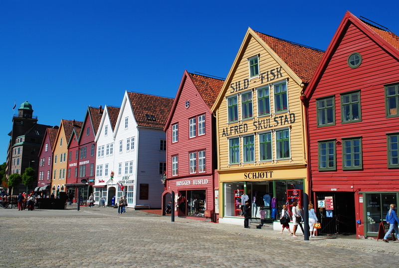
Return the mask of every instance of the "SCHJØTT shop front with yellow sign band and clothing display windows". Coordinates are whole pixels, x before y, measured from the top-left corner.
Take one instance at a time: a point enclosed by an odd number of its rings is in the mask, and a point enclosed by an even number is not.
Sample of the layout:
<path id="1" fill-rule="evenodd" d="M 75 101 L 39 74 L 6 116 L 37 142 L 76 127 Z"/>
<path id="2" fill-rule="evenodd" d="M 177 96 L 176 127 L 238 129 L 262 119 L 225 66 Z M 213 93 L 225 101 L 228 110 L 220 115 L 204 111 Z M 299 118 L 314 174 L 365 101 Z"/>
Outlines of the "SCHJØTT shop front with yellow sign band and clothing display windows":
<path id="1" fill-rule="evenodd" d="M 298 177 L 289 176 L 295 174 Z M 303 208 L 306 168 L 295 172 L 274 170 L 220 174 L 219 180 L 220 189 L 223 189 L 220 195 L 223 215 L 220 223 L 242 225 L 246 200 L 251 206 L 251 218 L 259 223 L 278 221 L 284 204 L 290 211 L 294 201 Z"/>

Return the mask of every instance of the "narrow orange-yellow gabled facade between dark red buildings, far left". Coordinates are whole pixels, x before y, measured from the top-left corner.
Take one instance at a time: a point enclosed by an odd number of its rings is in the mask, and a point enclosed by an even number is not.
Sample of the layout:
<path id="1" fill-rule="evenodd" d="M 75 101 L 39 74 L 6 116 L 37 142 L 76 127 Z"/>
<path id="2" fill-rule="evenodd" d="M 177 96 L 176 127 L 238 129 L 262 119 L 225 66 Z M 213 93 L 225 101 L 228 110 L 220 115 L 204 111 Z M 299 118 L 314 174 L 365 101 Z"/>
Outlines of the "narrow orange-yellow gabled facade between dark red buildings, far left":
<path id="1" fill-rule="evenodd" d="M 68 157 L 68 141 L 65 137 L 64 126 L 61 124 L 57 133 L 57 138 L 54 142 L 53 148 L 53 172 L 51 175 L 51 193 L 57 196 L 58 192 L 66 192 L 66 177 L 67 177 L 67 158 Z M 58 189 L 59 186 L 59 189 Z M 63 187 L 63 190 L 62 190 Z M 53 191 L 53 189 L 55 189 Z"/>

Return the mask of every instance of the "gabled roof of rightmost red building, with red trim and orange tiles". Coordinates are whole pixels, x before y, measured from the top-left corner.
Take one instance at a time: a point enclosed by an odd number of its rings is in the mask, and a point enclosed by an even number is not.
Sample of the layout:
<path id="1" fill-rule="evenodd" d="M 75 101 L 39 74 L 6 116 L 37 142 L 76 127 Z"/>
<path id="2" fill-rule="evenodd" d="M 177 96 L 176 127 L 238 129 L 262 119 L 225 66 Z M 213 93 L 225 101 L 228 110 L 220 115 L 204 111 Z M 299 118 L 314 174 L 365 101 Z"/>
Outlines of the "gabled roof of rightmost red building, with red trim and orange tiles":
<path id="1" fill-rule="evenodd" d="M 399 60 L 399 37 L 395 33 L 373 26 L 347 11 L 340 25 L 338 26 L 333 39 L 328 45 L 326 53 L 317 67 L 312 80 L 304 92 L 307 99 L 311 97 L 312 93 L 316 89 L 316 86 L 326 70 L 330 59 L 334 55 L 335 50 L 339 46 L 341 39 L 346 34 L 346 31 L 351 23 L 364 32 L 370 39 L 375 41 L 382 49 L 386 50 Z"/>

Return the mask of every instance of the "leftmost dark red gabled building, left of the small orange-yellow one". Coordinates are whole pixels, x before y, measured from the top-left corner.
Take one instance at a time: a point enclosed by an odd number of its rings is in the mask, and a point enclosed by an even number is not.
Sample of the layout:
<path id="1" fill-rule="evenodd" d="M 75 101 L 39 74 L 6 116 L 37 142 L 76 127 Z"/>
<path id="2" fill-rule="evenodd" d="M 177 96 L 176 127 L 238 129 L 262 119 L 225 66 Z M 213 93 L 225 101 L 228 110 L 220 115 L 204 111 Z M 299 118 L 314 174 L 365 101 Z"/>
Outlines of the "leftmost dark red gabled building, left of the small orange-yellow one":
<path id="1" fill-rule="evenodd" d="M 38 192 L 43 198 L 50 197 L 53 153 L 55 138 L 57 137 L 58 126 L 47 128 L 44 133 L 43 142 L 39 150 L 39 170 L 37 176 Z"/>

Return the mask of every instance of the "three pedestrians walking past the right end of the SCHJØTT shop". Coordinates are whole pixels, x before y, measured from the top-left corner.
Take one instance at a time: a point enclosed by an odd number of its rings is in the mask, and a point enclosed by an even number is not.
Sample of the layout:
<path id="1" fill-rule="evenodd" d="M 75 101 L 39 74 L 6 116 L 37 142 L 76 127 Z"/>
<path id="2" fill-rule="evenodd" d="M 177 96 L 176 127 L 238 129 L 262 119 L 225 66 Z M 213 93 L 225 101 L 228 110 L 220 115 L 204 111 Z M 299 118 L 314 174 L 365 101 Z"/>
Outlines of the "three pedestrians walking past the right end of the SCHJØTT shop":
<path id="1" fill-rule="evenodd" d="M 315 234 L 316 232 L 314 232 L 314 223 L 319 222 L 319 220 L 317 219 L 313 204 L 309 204 L 308 210 L 309 210 L 308 215 L 309 215 L 310 237 L 316 237 L 316 234 Z M 287 229 L 288 232 L 290 232 L 290 235 L 292 235 L 293 237 L 297 237 L 295 233 L 298 229 L 298 225 L 302 230 L 302 234 L 305 234 L 305 231 L 304 231 L 304 229 L 302 227 L 302 223 L 301 223 L 301 222 L 303 222 L 302 210 L 301 210 L 298 202 L 294 201 L 292 203 L 292 221 L 294 223 L 293 233 L 291 233 L 290 226 L 289 226 L 290 213 L 287 210 L 287 205 L 285 205 L 285 204 L 283 205 L 280 219 L 283 219 L 283 218 L 286 218 L 287 220 L 284 223 L 282 223 L 281 234 L 283 234 L 284 229 Z"/>

